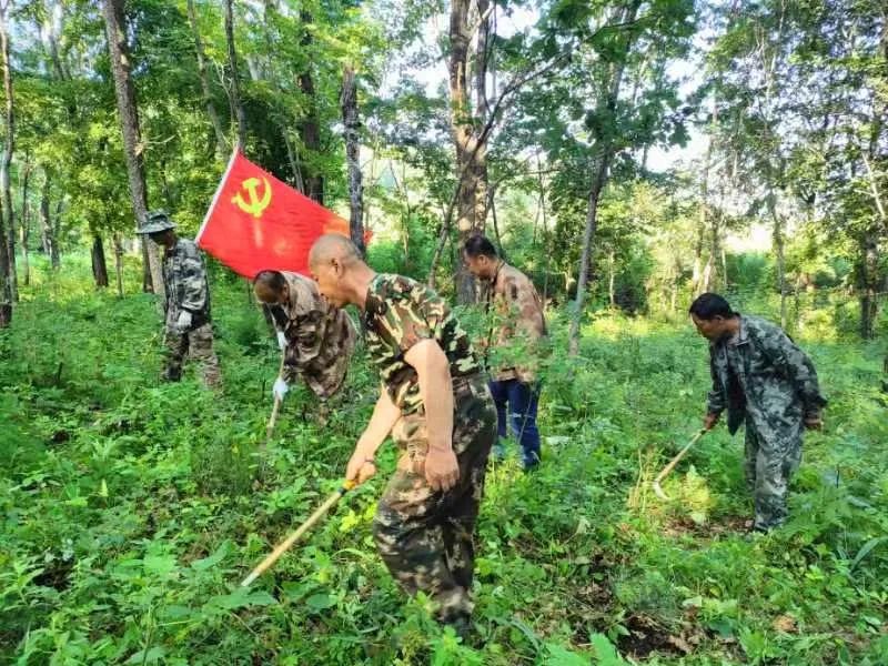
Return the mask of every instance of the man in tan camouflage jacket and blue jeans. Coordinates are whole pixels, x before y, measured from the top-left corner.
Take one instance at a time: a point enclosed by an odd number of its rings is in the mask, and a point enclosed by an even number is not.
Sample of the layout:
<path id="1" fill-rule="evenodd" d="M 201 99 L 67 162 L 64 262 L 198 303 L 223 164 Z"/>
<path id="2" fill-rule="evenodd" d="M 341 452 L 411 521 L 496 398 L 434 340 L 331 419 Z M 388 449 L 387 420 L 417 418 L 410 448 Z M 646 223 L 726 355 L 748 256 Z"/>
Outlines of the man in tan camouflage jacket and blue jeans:
<path id="1" fill-rule="evenodd" d="M 496 404 L 500 435 L 493 453 L 497 460 L 504 456 L 502 443 L 508 436 L 511 421 L 522 447 L 524 470 L 529 471 L 541 460 L 536 411 L 539 401 L 537 365 L 546 341 L 543 303 L 529 278 L 500 259 L 485 236 L 470 238 L 464 251 L 470 272 L 486 285 L 485 312 L 491 322 L 483 343 L 485 361 L 491 353 L 500 356 L 491 369 L 491 393 Z"/>

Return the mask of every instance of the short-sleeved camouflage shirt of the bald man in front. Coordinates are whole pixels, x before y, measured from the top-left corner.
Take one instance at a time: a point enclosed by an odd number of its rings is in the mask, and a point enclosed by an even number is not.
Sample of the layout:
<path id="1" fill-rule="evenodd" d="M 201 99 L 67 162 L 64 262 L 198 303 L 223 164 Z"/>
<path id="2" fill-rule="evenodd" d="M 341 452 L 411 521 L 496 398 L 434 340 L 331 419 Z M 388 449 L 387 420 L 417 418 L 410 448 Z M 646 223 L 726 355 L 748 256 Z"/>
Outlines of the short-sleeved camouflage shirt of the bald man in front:
<path id="1" fill-rule="evenodd" d="M 363 325 L 367 353 L 380 370 L 383 390 L 404 415 L 422 408 L 416 370 L 404 360 L 421 340 L 435 340 L 441 345 L 452 377 L 481 370 L 468 335 L 444 299 L 410 278 L 380 273 L 373 279 Z"/>

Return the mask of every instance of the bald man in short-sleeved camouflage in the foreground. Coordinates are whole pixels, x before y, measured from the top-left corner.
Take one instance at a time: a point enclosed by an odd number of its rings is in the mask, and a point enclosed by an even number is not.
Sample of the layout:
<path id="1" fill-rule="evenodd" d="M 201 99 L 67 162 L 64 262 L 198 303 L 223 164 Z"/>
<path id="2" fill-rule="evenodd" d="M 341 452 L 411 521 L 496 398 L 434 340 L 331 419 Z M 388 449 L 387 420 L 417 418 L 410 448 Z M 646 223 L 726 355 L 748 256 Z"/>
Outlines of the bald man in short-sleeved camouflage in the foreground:
<path id="1" fill-rule="evenodd" d="M 357 305 L 382 391 L 345 476 L 376 471 L 374 455 L 391 433 L 397 470 L 380 500 L 376 547 L 408 594 L 424 592 L 437 617 L 465 634 L 472 613 L 473 533 L 496 413 L 467 334 L 426 286 L 377 274 L 344 236 L 321 236 L 310 264 L 335 306 Z"/>

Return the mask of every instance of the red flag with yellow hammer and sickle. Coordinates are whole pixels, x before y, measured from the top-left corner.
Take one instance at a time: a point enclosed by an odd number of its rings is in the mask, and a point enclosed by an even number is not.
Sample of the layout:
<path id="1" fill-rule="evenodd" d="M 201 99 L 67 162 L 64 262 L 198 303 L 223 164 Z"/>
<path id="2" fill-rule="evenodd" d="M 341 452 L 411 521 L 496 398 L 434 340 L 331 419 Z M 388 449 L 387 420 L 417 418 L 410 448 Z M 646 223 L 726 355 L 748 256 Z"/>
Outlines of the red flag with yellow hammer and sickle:
<path id="1" fill-rule="evenodd" d="M 235 151 L 194 239 L 235 273 L 309 272 L 309 251 L 324 233 L 349 235 L 349 222 Z"/>

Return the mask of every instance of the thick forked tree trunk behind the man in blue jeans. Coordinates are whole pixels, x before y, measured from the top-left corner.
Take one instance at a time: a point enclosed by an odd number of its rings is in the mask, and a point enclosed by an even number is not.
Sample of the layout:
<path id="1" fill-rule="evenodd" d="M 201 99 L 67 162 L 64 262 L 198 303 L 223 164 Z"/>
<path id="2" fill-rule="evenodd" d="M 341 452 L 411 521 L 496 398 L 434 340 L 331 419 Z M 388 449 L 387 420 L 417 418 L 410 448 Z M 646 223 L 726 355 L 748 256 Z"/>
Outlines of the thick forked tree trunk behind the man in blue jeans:
<path id="1" fill-rule="evenodd" d="M 487 0 L 478 2 L 482 24 L 480 27 L 478 49 L 476 50 L 475 98 L 481 103 L 478 114 L 486 112 L 486 61 L 487 43 L 491 36 Z M 451 2 L 451 132 L 456 147 L 456 230 L 460 246 L 474 233 L 484 231 L 487 205 L 487 155 L 486 138 L 481 135 L 470 102 L 470 46 L 472 26 L 470 22 L 471 0 Z M 482 9 L 482 7 L 484 9 Z M 456 299 L 460 303 L 472 303 L 476 299 L 475 279 L 464 261 L 458 262 L 454 272 Z"/>

